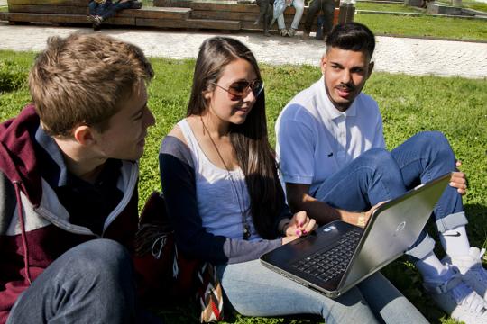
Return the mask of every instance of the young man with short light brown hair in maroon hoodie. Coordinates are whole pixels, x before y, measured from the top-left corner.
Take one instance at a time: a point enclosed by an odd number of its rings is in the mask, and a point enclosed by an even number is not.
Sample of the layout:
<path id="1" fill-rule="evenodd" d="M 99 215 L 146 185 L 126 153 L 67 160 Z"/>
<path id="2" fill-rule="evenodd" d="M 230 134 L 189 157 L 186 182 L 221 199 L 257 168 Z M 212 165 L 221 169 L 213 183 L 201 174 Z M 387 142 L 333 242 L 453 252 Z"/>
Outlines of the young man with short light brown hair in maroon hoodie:
<path id="1" fill-rule="evenodd" d="M 142 50 L 52 37 L 32 103 L 0 124 L 0 323 L 130 323 L 138 159 L 154 117 Z"/>

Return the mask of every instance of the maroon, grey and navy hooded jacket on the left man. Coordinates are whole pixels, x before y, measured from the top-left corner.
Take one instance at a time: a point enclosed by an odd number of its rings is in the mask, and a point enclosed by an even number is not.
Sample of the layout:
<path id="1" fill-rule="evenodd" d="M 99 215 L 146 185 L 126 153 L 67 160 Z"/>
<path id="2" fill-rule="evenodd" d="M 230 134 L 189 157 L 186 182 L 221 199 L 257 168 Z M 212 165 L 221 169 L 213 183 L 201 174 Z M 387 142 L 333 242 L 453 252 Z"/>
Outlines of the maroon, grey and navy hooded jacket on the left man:
<path id="1" fill-rule="evenodd" d="M 69 248 L 99 238 L 69 222 L 69 213 L 42 179 L 32 132 L 39 116 L 28 105 L 16 118 L 0 124 L 0 324 L 15 300 L 53 260 Z M 138 164 L 122 161 L 118 187 L 121 202 L 106 219 L 101 237 L 133 250 L 137 230 Z"/>

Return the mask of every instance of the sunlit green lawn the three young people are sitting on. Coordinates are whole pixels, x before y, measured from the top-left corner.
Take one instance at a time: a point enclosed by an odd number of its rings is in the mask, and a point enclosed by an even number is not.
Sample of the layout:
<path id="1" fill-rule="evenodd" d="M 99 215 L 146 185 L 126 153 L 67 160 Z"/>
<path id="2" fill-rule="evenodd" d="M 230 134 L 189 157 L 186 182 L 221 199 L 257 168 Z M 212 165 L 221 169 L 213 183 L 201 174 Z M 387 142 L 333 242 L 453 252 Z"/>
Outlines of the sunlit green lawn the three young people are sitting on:
<path id="1" fill-rule="evenodd" d="M 32 53 L 0 51 L 0 121 L 13 117 L 29 102 L 25 77 L 32 64 Z M 149 88 L 150 106 L 157 123 L 151 128 L 141 160 L 140 206 L 153 190 L 160 190 L 157 154 L 161 139 L 184 117 L 194 60 L 152 59 L 156 77 Z M 270 67 L 262 65 L 266 84 L 267 115 L 271 143 L 274 122 L 289 99 L 320 76 L 317 67 Z M 405 76 L 374 73 L 364 92 L 379 103 L 388 148 L 394 148 L 421 130 L 441 130 L 456 155 L 464 162 L 470 189 L 464 197 L 468 227 L 474 246 L 487 245 L 487 79 L 459 77 Z M 484 260 L 485 261 L 485 260 Z M 413 266 L 400 259 L 383 273 L 432 322 L 452 323 L 423 293 L 420 277 Z M 194 323 L 198 306 L 176 305 L 158 309 L 167 322 Z M 225 323 L 274 324 L 315 323 L 316 317 L 246 318 L 230 314 Z"/>

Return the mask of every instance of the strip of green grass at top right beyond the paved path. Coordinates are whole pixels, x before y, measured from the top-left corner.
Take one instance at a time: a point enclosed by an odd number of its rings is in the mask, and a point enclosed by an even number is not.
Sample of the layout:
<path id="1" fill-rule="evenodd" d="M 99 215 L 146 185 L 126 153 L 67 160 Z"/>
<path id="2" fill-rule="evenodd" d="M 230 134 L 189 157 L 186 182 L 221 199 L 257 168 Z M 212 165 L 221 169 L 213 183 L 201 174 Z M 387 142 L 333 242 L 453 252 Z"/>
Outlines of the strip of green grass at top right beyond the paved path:
<path id="1" fill-rule="evenodd" d="M 436 37 L 453 40 L 487 40 L 487 23 L 480 20 L 393 14 L 355 14 L 376 34 Z"/>

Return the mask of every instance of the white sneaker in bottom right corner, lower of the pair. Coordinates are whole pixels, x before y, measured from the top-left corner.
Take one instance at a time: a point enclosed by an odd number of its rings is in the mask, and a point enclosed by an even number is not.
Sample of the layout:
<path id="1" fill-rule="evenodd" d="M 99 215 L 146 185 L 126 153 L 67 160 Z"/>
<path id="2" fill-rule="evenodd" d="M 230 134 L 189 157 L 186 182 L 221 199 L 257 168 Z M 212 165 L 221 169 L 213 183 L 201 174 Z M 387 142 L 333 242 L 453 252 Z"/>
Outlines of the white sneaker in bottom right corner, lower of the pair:
<path id="1" fill-rule="evenodd" d="M 425 282 L 427 292 L 436 304 L 451 318 L 465 324 L 487 323 L 487 303 L 478 293 L 464 284 L 460 274 L 455 274 L 446 283 Z"/>

